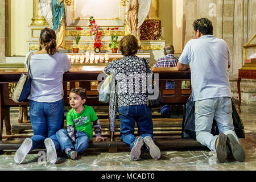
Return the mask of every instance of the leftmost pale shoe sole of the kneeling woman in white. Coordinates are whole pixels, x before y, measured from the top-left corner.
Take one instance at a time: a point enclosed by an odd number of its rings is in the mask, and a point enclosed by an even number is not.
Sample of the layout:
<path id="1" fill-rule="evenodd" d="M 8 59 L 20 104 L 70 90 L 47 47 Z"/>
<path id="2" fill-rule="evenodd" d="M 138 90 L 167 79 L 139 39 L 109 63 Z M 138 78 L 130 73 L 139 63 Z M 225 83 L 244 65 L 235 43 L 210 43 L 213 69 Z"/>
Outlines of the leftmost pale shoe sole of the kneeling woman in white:
<path id="1" fill-rule="evenodd" d="M 32 143 L 33 141 L 31 138 L 24 139 L 23 143 L 21 144 L 21 146 L 18 148 L 18 150 L 15 152 L 15 155 L 14 155 L 14 161 L 16 164 L 20 164 L 23 162 L 26 155 L 31 150 Z"/>

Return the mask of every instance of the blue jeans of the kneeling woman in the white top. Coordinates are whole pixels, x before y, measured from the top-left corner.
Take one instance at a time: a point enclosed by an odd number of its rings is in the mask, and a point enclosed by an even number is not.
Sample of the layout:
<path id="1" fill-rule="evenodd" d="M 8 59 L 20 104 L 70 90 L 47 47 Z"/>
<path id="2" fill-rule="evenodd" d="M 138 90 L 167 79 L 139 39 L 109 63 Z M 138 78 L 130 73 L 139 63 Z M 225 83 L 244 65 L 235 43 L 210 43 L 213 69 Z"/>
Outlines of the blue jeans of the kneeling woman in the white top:
<path id="1" fill-rule="evenodd" d="M 30 120 L 34 136 L 31 137 L 32 148 L 44 145 L 44 139 L 51 138 L 55 148 L 59 148 L 56 132 L 63 127 L 64 100 L 56 102 L 36 102 L 30 100 Z"/>

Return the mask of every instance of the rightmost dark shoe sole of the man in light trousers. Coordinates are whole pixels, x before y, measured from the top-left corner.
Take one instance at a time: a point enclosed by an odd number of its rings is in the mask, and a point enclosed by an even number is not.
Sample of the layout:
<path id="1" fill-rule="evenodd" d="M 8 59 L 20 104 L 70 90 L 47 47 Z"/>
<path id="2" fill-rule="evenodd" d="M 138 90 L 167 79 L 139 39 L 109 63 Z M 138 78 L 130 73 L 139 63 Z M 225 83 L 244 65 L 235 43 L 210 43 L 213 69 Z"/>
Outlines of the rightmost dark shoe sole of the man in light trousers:
<path id="1" fill-rule="evenodd" d="M 237 141 L 236 138 L 232 134 L 226 135 L 228 137 L 227 144 L 230 146 L 232 155 L 239 162 L 243 162 L 245 160 L 245 150 L 241 144 Z"/>

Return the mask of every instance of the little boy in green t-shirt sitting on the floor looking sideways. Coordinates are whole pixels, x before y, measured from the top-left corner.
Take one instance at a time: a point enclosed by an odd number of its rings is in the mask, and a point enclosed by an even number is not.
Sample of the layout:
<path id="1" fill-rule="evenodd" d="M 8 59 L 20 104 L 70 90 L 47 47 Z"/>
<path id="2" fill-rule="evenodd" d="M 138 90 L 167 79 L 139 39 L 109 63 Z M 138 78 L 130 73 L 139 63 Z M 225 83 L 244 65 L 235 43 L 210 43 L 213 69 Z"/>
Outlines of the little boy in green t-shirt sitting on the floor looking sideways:
<path id="1" fill-rule="evenodd" d="M 89 138 L 93 137 L 92 122 L 96 141 L 102 139 L 101 126 L 92 107 L 84 105 L 86 90 L 82 88 L 71 89 L 69 104 L 72 109 L 67 113 L 67 130 L 57 131 L 56 137 L 60 143 L 61 151 L 69 158 L 75 160 L 77 153 L 83 152 L 89 145 Z"/>

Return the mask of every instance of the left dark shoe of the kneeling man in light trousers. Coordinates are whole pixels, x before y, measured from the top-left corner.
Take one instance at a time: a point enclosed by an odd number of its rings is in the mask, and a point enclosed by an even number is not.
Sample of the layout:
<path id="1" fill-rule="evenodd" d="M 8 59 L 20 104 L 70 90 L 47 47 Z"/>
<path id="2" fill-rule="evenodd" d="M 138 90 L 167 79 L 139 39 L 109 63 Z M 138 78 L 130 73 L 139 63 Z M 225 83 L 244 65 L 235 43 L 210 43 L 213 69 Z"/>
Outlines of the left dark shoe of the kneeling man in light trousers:
<path id="1" fill-rule="evenodd" d="M 226 140 L 227 137 L 225 134 L 220 133 L 218 135 L 218 141 L 216 145 L 216 154 L 217 159 L 220 161 L 220 163 L 224 163 L 226 158 L 228 157 L 228 151 L 226 150 Z"/>

